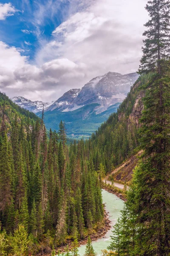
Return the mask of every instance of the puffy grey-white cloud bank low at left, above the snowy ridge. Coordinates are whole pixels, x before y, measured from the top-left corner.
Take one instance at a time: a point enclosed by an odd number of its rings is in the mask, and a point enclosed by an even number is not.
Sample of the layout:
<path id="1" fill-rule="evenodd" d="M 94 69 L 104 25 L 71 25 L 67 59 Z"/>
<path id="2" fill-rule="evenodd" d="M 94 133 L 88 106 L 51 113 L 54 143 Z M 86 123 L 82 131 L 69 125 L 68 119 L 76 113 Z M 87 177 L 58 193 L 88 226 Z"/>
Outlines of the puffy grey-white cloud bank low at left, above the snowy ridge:
<path id="1" fill-rule="evenodd" d="M 41 67 L 31 65 L 20 51 L 2 41 L 0 56 L 0 91 L 10 97 L 22 94 L 32 100 L 57 99 L 61 88 L 67 90 L 70 79 L 76 83 L 85 76 L 84 65 L 68 59 L 55 59 Z"/>

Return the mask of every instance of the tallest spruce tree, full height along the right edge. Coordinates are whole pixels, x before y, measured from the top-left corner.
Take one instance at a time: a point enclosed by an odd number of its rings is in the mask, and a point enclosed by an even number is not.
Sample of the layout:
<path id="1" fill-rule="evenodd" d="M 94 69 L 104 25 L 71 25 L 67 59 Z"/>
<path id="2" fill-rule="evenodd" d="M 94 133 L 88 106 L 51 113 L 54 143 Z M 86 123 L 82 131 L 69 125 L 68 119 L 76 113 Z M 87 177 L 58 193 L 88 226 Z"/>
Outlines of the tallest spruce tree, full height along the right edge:
<path id="1" fill-rule="evenodd" d="M 153 0 L 146 6 L 140 73 L 155 72 L 144 87 L 144 111 L 140 134 L 144 150 L 136 169 L 134 209 L 140 243 L 139 255 L 167 256 L 170 253 L 170 1 Z"/>

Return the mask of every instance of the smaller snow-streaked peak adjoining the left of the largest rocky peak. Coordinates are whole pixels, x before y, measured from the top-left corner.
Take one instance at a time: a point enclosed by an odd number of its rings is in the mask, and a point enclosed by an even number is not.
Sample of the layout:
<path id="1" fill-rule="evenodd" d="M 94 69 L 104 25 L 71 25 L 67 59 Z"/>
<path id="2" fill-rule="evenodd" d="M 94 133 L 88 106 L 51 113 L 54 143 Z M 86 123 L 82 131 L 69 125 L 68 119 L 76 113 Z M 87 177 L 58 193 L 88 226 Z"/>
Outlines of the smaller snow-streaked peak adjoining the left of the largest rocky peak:
<path id="1" fill-rule="evenodd" d="M 62 97 L 57 99 L 51 106 L 49 106 L 46 110 L 53 111 L 57 109 L 59 111 L 67 111 L 69 107 L 73 104 L 74 100 L 79 95 L 81 89 L 71 89 L 68 92 L 64 93 Z"/>

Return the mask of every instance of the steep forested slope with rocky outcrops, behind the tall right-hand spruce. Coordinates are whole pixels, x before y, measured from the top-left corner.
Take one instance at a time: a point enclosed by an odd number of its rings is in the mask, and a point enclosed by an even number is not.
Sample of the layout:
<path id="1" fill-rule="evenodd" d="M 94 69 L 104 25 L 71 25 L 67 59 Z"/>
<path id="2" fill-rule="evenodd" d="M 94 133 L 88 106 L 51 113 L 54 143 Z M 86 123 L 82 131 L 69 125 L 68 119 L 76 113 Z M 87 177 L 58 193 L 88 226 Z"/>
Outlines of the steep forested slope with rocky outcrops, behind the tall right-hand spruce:
<path id="1" fill-rule="evenodd" d="M 86 142 L 86 148 L 91 148 L 91 157 L 96 170 L 99 169 L 99 165 L 102 163 L 106 173 L 114 172 L 117 166 L 138 153 L 139 119 L 142 115 L 142 98 L 144 97 L 142 85 L 148 81 L 149 76 L 139 77 L 130 93 L 127 94 L 127 98 L 119 106 L 117 113 L 112 113 L 108 120 L 99 127 L 98 131 L 92 134 L 91 140 Z M 131 169 L 128 169 L 129 175 L 132 173 L 134 166 L 132 164 Z M 117 180 L 123 180 L 122 177 L 126 172 L 124 170 L 122 169 L 119 173 L 121 177 L 120 179 L 117 177 Z M 126 177 L 124 181 L 129 181 L 129 177 Z"/>

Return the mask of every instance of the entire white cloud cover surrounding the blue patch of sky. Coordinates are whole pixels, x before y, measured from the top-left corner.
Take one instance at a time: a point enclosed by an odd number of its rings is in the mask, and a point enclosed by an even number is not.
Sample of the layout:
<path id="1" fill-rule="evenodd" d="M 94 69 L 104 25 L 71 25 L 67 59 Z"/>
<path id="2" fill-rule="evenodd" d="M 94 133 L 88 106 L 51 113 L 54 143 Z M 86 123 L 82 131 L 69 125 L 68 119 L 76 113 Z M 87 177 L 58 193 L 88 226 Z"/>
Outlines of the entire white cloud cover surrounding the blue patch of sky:
<path id="1" fill-rule="evenodd" d="M 138 69 L 147 0 L 70 1 L 68 19 L 54 29 L 51 41 L 40 42 L 34 64 L 20 49 L 0 42 L 1 91 L 10 97 L 22 95 L 47 102 L 109 71 L 131 73 Z M 46 3 L 47 13 L 51 3 Z M 44 21 L 44 14 L 45 7 L 40 5 L 37 24 Z"/>

